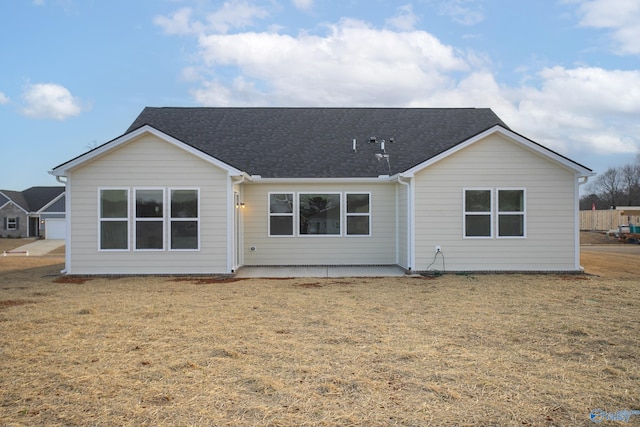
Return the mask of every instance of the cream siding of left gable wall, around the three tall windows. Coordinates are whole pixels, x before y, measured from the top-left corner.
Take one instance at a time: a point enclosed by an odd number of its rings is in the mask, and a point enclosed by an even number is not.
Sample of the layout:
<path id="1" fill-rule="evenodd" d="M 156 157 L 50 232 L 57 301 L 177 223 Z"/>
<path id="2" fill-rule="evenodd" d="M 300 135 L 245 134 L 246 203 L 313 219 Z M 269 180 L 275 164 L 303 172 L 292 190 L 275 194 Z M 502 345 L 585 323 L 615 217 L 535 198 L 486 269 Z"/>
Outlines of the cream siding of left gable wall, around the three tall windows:
<path id="1" fill-rule="evenodd" d="M 168 142 L 143 135 L 74 169 L 69 177 L 69 274 L 228 273 L 231 190 L 227 172 Z M 99 188 L 199 189 L 199 250 L 99 251 Z M 133 195 L 130 195 L 132 198 Z M 133 202 L 130 202 L 133 203 Z M 131 211 L 132 206 L 129 207 Z M 168 218 L 167 214 L 167 218 Z M 133 214 L 131 214 L 131 219 Z M 133 227 L 132 225 L 130 227 Z M 130 228 L 131 229 L 131 228 Z M 165 235 L 165 241 L 167 236 Z M 132 237 L 129 237 L 131 241 Z"/>

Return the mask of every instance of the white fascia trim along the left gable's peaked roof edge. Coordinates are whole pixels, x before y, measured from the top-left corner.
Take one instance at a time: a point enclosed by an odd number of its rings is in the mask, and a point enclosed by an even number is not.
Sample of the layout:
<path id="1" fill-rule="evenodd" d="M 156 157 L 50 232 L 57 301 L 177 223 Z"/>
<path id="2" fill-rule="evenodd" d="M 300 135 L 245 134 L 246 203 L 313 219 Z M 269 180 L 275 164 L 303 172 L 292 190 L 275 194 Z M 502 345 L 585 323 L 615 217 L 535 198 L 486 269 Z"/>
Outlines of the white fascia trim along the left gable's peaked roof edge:
<path id="1" fill-rule="evenodd" d="M 178 148 L 183 149 L 184 151 L 193 154 L 194 156 L 208 162 L 211 163 L 215 166 L 218 166 L 219 168 L 226 170 L 230 175 L 241 175 L 243 172 L 224 163 L 221 160 L 216 159 L 215 157 L 211 157 L 205 153 L 203 153 L 200 150 L 197 150 L 193 147 L 191 147 L 188 144 L 185 144 L 184 142 L 180 141 L 179 139 L 176 139 L 172 136 L 167 135 L 166 133 L 159 131 L 158 129 L 149 126 L 149 125 L 144 125 L 136 130 L 134 130 L 133 132 L 127 133 L 125 135 L 119 136 L 116 139 L 113 139 L 109 142 L 107 142 L 106 144 L 103 144 L 79 157 L 76 157 L 73 160 L 68 161 L 67 163 L 63 163 L 60 166 L 54 168 L 52 171 L 50 171 L 49 173 L 55 176 L 67 176 L 68 171 L 70 171 L 71 169 L 74 169 L 90 160 L 93 160 L 95 158 L 98 158 L 106 153 L 108 153 L 109 151 L 120 147 L 121 145 L 127 144 L 128 142 L 131 142 L 132 140 L 138 138 L 139 136 L 142 136 L 144 134 L 150 134 L 153 135 L 157 138 L 162 139 L 163 141 L 166 141 L 170 144 L 175 145 Z"/>

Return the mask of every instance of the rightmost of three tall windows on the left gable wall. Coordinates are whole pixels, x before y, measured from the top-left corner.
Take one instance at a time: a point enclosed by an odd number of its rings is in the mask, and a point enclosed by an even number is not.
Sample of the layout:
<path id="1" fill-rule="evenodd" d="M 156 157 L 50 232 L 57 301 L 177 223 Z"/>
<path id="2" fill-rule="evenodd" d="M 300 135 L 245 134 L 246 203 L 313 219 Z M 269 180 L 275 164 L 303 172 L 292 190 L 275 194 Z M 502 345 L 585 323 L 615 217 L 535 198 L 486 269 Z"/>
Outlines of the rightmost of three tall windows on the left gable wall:
<path id="1" fill-rule="evenodd" d="M 170 190 L 171 250 L 200 248 L 200 200 L 196 189 Z"/>

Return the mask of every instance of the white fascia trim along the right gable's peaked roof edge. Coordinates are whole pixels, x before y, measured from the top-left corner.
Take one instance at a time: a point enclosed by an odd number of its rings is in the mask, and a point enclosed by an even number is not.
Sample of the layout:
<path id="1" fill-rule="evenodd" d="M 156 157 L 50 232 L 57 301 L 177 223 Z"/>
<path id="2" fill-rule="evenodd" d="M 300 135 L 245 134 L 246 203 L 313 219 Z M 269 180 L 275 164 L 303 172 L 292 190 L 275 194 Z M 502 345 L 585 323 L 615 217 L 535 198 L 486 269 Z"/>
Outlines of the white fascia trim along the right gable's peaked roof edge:
<path id="1" fill-rule="evenodd" d="M 481 141 L 482 139 L 493 135 L 493 134 L 499 134 L 519 145 L 521 145 L 524 148 L 527 148 L 530 151 L 533 151 L 543 157 L 546 157 L 547 159 L 559 164 L 560 166 L 569 169 L 571 171 L 574 171 L 575 173 L 577 173 L 579 176 L 594 176 L 596 173 L 587 169 L 586 167 L 583 167 L 563 156 L 561 156 L 558 153 L 555 153 L 554 151 L 543 147 L 542 145 L 539 145 L 537 143 L 534 143 L 533 141 L 518 135 L 517 133 L 506 129 L 502 126 L 496 125 L 492 128 L 487 129 L 484 132 L 481 132 L 469 139 L 467 139 L 466 141 L 456 145 L 455 147 L 438 154 L 437 156 L 434 156 L 432 158 L 430 158 L 429 160 L 420 163 L 419 165 L 414 166 L 413 168 L 407 170 L 406 172 L 402 173 L 401 175 L 404 177 L 412 177 L 416 172 L 421 171 L 422 169 L 429 167 L 431 165 L 433 165 L 434 163 L 439 162 L 442 159 L 445 159 L 449 156 L 451 156 L 452 154 L 457 153 L 460 150 L 465 149 L 466 147 Z"/>

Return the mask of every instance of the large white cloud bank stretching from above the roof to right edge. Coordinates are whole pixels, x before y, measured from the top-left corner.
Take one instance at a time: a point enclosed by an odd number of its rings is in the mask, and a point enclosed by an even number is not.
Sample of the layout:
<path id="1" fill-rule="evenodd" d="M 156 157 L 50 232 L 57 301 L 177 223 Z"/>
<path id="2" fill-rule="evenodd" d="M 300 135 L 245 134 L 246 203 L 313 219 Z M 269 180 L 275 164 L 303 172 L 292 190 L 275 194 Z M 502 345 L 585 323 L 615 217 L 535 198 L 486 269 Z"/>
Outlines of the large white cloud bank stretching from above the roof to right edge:
<path id="1" fill-rule="evenodd" d="M 203 28 L 201 63 L 185 67 L 183 78 L 206 106 L 490 107 L 516 132 L 560 153 L 640 149 L 638 70 L 549 67 L 508 86 L 486 55 L 425 31 L 354 19 L 325 28 L 297 35 Z"/>

